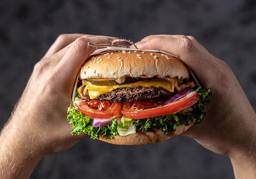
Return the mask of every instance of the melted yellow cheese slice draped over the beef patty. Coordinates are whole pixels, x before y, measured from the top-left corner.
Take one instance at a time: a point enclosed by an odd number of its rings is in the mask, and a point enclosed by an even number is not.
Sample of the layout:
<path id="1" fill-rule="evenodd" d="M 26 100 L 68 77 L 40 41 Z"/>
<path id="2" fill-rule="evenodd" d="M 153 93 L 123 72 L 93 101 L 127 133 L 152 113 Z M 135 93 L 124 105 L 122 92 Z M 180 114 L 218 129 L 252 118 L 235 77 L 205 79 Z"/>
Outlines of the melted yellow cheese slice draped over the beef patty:
<path id="1" fill-rule="evenodd" d="M 82 91 L 83 87 L 84 91 Z M 91 82 L 88 82 L 86 80 L 82 80 L 82 85 L 77 88 L 77 91 L 81 96 L 84 96 L 83 94 L 88 92 L 88 95 L 91 99 L 94 99 L 102 94 L 110 93 L 114 89 L 118 88 L 135 88 L 135 87 L 162 87 L 163 89 L 173 92 L 174 87 L 178 90 L 182 90 L 188 86 L 194 87 L 193 82 L 188 82 L 186 84 L 178 85 L 177 81 L 168 82 L 164 79 L 143 79 L 143 81 L 129 83 L 129 84 L 121 84 L 121 85 L 111 85 L 111 86 L 96 86 L 93 85 Z"/>

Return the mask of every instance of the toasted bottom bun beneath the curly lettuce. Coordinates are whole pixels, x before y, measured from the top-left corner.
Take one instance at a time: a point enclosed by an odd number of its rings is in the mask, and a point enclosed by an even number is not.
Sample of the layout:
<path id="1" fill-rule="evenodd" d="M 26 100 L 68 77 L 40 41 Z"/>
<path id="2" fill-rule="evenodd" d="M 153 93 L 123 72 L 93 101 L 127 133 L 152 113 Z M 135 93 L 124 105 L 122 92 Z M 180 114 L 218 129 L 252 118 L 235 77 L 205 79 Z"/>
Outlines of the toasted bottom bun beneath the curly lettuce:
<path id="1" fill-rule="evenodd" d="M 189 126 L 185 126 L 184 124 L 180 124 L 180 126 L 176 126 L 176 131 L 171 134 L 165 134 L 162 130 L 158 128 L 149 129 L 148 131 L 136 132 L 134 134 L 130 134 L 127 136 L 115 136 L 112 139 L 105 139 L 105 137 L 100 136 L 101 141 L 107 142 L 109 144 L 115 145 L 145 145 L 145 144 L 154 144 L 158 142 L 163 142 L 169 138 L 180 135 L 185 132 L 192 126 L 190 123 Z"/>

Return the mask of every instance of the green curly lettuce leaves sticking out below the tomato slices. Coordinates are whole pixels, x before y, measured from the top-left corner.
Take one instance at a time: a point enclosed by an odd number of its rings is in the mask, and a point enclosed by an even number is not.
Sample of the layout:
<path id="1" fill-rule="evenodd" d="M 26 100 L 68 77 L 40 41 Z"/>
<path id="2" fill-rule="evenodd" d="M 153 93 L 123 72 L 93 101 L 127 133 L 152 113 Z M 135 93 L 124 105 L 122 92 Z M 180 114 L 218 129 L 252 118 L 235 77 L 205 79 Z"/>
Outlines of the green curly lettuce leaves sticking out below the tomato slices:
<path id="1" fill-rule="evenodd" d="M 181 111 L 137 120 L 129 120 L 127 118 L 122 121 L 122 124 L 128 126 L 132 123 L 136 126 L 136 131 L 147 131 L 151 128 L 159 128 L 166 134 L 176 131 L 176 126 L 179 126 L 180 121 L 183 121 L 185 125 L 189 125 L 189 121 L 198 125 L 204 121 L 204 116 L 207 112 L 206 103 L 211 102 L 212 90 L 211 88 L 202 89 L 201 86 L 197 86 L 196 91 L 198 91 L 200 99 L 195 105 L 191 106 L 192 110 L 189 112 Z M 77 97 L 79 97 L 78 95 L 79 93 L 76 93 Z M 118 135 L 118 122 L 116 119 L 112 119 L 113 123 L 111 126 L 92 127 L 92 119 L 81 113 L 73 103 L 70 104 L 68 113 L 68 121 L 73 124 L 74 129 L 71 133 L 72 135 L 79 135 L 83 132 L 91 135 L 91 138 L 93 139 L 99 138 L 100 134 L 106 139 L 112 139 L 114 136 Z"/>

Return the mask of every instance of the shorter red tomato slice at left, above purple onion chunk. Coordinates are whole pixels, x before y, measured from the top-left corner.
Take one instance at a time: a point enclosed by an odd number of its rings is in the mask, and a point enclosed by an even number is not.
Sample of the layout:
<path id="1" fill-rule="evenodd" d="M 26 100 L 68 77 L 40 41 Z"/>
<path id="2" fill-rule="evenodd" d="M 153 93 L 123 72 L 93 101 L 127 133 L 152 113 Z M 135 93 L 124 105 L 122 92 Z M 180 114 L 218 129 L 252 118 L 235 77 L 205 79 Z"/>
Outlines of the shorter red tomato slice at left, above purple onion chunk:
<path id="1" fill-rule="evenodd" d="M 92 102 L 92 103 L 91 103 Z M 76 104 L 76 103 L 75 103 Z M 122 104 L 121 103 L 112 103 L 109 101 L 90 101 L 84 102 L 81 104 L 76 104 L 79 111 L 81 111 L 84 115 L 89 116 L 90 118 L 110 118 L 119 113 Z M 93 109 L 92 107 L 98 107 L 98 109 Z"/>

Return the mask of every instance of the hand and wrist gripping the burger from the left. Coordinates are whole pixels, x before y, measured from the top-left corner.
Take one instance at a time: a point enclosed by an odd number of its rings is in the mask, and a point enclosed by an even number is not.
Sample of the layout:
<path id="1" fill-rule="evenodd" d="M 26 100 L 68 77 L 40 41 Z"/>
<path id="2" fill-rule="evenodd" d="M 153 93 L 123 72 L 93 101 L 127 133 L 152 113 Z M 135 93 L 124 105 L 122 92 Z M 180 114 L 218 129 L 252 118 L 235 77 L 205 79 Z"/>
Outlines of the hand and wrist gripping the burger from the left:
<path id="1" fill-rule="evenodd" d="M 77 73 L 94 51 L 87 47 L 87 43 L 108 43 L 114 39 L 82 34 L 60 35 L 36 63 L 12 116 L 1 132 L 0 158 L 4 160 L 0 160 L 0 166 L 5 167 L 1 169 L 0 178 L 11 178 L 14 174 L 26 178 L 41 157 L 64 151 L 88 136 L 70 135 L 72 125 L 67 121 L 67 107 Z"/>

